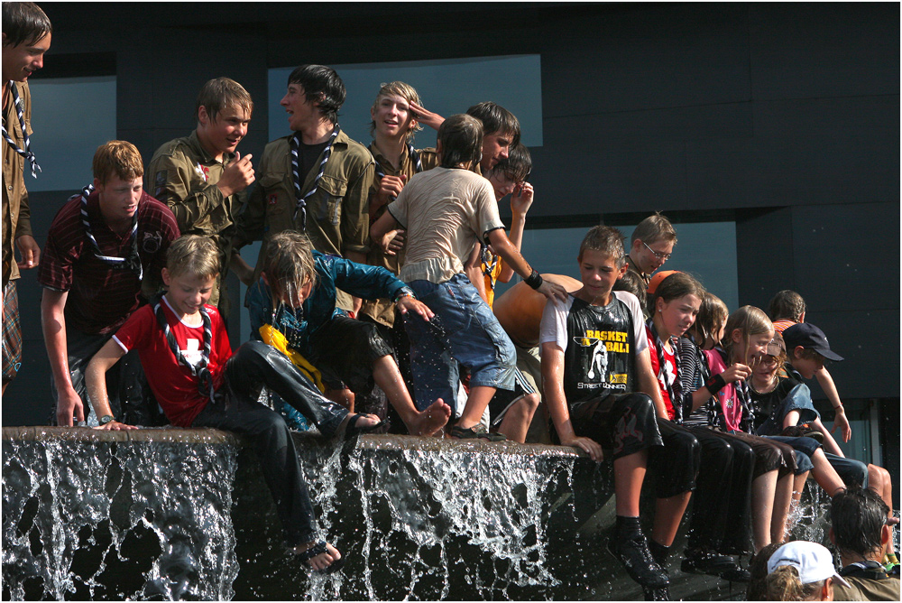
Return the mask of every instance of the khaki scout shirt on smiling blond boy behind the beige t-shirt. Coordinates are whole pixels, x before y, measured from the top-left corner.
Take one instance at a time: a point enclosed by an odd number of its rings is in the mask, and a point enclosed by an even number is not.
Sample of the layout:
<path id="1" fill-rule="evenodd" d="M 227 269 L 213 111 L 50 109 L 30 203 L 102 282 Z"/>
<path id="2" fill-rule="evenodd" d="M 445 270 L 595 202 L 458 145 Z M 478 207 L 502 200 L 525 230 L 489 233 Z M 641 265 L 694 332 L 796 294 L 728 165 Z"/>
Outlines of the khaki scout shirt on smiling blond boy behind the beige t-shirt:
<path id="1" fill-rule="evenodd" d="M 410 153 L 408 153 L 406 148 L 404 149 L 404 154 L 400 158 L 400 168 L 397 170 L 391 165 L 391 162 L 388 159 L 382 156 L 382 153 L 379 153 L 376 150 L 375 143 L 370 144 L 370 153 L 373 153 L 373 158 L 379 163 L 382 172 L 385 172 L 386 176 L 400 176 L 401 174 L 406 174 L 407 180 L 410 181 L 414 174 L 417 173 L 417 164 L 410 158 Z M 419 162 L 423 165 L 423 172 L 431 170 L 438 164 L 435 149 L 421 149 L 417 153 L 419 153 Z M 373 184 L 370 186 L 369 207 L 371 225 L 382 216 L 385 212 L 385 206 L 388 205 L 377 199 L 376 193 L 379 192 L 380 181 L 382 181 L 381 178 L 375 177 L 373 178 Z M 382 251 L 382 247 L 371 245 L 370 252 L 366 255 L 366 263 L 387 268 L 391 271 L 391 274 L 397 276 L 400 274 L 401 264 L 404 264 L 404 249 L 401 249 L 398 252 L 398 255 L 385 255 L 385 252 Z M 387 327 L 394 325 L 395 304 L 389 300 L 364 300 L 364 305 L 361 307 L 360 311 L 362 314 L 366 314 L 376 322 L 380 322 Z"/>

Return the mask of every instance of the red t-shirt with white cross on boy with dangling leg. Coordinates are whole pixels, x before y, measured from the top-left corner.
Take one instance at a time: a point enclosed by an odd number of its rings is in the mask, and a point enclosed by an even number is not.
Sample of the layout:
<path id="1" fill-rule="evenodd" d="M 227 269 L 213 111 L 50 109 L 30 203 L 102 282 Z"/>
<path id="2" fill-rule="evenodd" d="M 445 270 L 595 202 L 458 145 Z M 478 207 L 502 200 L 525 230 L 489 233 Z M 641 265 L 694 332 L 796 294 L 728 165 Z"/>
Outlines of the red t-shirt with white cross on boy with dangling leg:
<path id="1" fill-rule="evenodd" d="M 162 307 L 181 353 L 189 362 L 197 363 L 204 348 L 203 323 L 192 326 L 179 320 L 165 296 Z M 213 328 L 213 341 L 207 366 L 213 375 L 213 386 L 219 389 L 223 382 L 226 360 L 232 356 L 232 347 L 219 312 L 210 305 L 205 308 L 210 314 Z M 131 349 L 138 350 L 147 383 L 151 386 L 163 412 L 166 413 L 166 418 L 173 425 L 190 427 L 198 413 L 207 406 L 209 398 L 200 394 L 198 377 L 191 375 L 188 366 L 182 366 L 176 360 L 163 329 L 153 314 L 153 308 L 145 305 L 135 311 L 116 331 L 113 339 L 126 352 Z"/>

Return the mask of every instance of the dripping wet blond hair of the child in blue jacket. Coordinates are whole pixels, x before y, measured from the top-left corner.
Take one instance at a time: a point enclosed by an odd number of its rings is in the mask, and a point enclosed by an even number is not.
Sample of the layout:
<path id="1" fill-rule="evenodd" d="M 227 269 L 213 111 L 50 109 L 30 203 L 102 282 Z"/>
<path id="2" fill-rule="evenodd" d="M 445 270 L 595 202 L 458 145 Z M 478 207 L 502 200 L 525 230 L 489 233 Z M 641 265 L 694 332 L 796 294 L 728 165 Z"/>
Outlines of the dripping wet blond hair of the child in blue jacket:
<path id="1" fill-rule="evenodd" d="M 309 282 L 317 283 L 317 265 L 313 260 L 313 244 L 307 235 L 283 230 L 266 245 L 262 271 L 270 285 L 273 304 L 278 304 Z"/>

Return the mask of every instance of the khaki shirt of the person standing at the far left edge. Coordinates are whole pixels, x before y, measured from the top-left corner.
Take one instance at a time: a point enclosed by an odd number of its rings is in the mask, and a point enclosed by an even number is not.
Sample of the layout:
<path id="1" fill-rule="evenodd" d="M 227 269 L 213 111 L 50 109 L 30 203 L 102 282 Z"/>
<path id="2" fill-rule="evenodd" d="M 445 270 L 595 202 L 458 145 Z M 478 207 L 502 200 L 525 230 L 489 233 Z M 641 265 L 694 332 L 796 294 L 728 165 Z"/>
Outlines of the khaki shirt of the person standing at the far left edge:
<path id="1" fill-rule="evenodd" d="M 25 120 L 25 130 L 32 135 L 32 93 L 28 89 L 28 82 L 16 82 L 15 86 L 22 98 L 22 116 Z M 4 126 L 6 132 L 20 148 L 25 148 L 25 139 L 22 134 L 22 126 L 19 125 L 19 116 L 15 112 L 13 94 L 10 91 L 6 97 L 6 105 L 3 111 Z M 14 148 L 3 140 L 3 286 L 6 283 L 19 278 L 19 266 L 15 264 L 13 252 L 15 239 L 23 235 L 32 235 L 32 212 L 28 209 L 28 191 L 25 190 L 25 158 L 16 153 Z"/>

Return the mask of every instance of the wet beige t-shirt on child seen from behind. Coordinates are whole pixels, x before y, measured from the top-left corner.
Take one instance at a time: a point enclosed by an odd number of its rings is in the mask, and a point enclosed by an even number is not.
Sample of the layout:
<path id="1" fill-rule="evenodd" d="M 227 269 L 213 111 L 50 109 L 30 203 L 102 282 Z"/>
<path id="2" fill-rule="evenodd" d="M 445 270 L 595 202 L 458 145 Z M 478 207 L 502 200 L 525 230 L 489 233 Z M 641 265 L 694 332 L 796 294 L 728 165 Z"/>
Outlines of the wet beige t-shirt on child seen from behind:
<path id="1" fill-rule="evenodd" d="M 407 229 L 407 256 L 400 269 L 406 283 L 445 283 L 463 273 L 474 245 L 504 227 L 492 184 L 466 170 L 420 172 L 388 210 Z"/>

